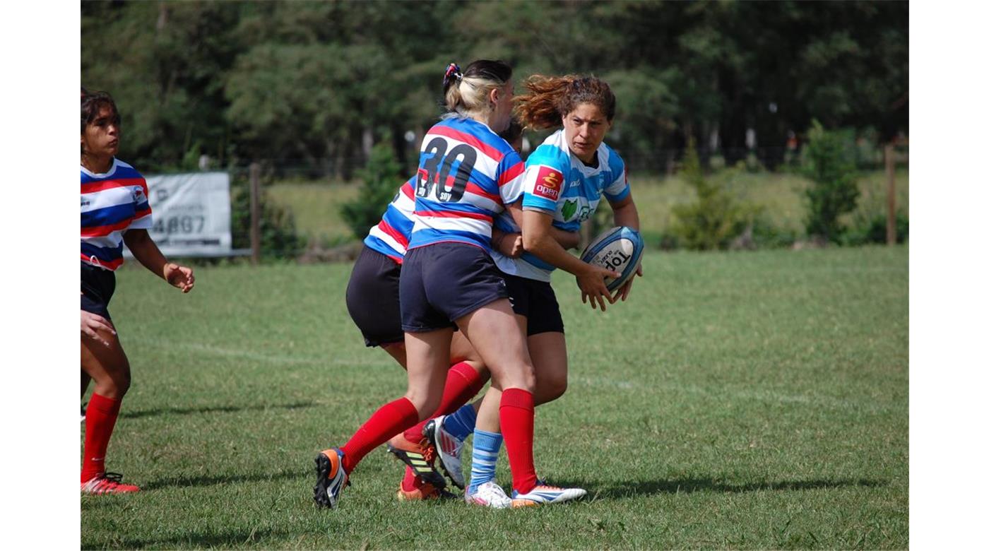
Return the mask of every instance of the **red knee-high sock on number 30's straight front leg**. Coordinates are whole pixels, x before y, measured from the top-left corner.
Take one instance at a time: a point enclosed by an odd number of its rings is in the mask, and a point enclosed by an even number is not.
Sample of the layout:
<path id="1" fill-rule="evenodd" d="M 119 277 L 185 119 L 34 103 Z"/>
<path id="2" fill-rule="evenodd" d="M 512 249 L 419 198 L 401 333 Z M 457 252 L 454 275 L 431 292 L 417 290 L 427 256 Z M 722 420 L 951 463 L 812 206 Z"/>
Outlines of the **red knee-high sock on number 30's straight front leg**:
<path id="1" fill-rule="evenodd" d="M 532 393 L 522 389 L 506 389 L 501 393 L 498 418 L 501 420 L 504 447 L 508 452 L 511 486 L 519 494 L 525 494 L 536 486 L 536 467 L 532 462 L 535 415 Z"/>

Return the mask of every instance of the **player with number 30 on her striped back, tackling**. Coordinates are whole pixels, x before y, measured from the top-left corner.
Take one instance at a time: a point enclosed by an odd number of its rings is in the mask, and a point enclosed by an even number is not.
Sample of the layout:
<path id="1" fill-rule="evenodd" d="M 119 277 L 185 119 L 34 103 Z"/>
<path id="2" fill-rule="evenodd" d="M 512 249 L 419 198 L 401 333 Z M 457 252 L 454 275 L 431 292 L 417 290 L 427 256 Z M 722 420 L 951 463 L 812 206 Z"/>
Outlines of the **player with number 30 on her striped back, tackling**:
<path id="1" fill-rule="evenodd" d="M 502 390 L 500 425 L 515 490 L 521 496 L 553 493 L 550 503 L 586 494 L 536 478 L 532 362 L 490 256 L 494 216 L 521 193 L 521 159 L 495 134 L 511 117 L 511 68 L 480 60 L 461 72 L 451 63 L 443 87 L 450 115 L 422 142 L 416 219 L 400 282 L 408 391 L 374 413 L 346 444 L 316 457 L 319 505 L 336 506 L 364 455 L 435 411 L 454 327 L 470 339 Z"/>

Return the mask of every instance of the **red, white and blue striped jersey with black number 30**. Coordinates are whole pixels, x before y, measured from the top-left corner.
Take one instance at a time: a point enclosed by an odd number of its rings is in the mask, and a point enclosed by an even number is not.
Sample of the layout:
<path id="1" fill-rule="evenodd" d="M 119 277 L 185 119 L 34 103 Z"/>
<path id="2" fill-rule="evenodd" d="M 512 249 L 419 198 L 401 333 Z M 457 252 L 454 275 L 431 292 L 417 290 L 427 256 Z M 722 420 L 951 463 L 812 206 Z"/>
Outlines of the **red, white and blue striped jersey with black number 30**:
<path id="1" fill-rule="evenodd" d="M 518 153 L 488 125 L 440 121 L 422 138 L 408 248 L 455 241 L 491 252 L 494 216 L 521 196 L 524 171 Z"/>

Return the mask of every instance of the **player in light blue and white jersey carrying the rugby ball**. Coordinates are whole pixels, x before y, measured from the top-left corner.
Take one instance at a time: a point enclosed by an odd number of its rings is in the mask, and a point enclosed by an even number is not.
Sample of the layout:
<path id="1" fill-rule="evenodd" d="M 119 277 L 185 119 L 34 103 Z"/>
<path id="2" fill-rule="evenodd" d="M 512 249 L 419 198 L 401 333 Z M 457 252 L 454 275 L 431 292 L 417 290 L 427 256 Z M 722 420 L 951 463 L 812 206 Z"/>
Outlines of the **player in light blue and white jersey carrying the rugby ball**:
<path id="1" fill-rule="evenodd" d="M 519 117 L 528 127 L 549 129 L 562 124 L 562 130 L 546 138 L 526 160 L 522 199 L 522 240 L 526 252 L 519 258 L 497 253 L 494 260 L 503 271 L 513 299 L 512 306 L 528 334 L 529 350 L 536 369 L 536 405 L 556 400 L 567 389 L 567 346 L 563 319 L 556 301 L 550 274 L 561 266 L 578 275 L 584 300 L 591 306 L 613 303 L 628 296 L 631 282 L 614 296 L 607 293 L 597 270 L 568 254 L 561 246 L 560 230 L 577 231 L 593 216 L 601 196 L 611 205 L 616 226 L 639 227 L 639 216 L 621 157 L 603 142 L 614 118 L 615 98 L 610 88 L 596 78 L 533 76 L 527 81 L 529 93 L 518 98 Z M 506 231 L 517 231 L 512 217 L 497 221 Z M 551 241 L 551 242 L 544 242 Z M 547 249 L 551 248 L 548 253 Z M 559 254 L 567 257 L 561 260 Z M 617 276 L 617 274 L 614 274 Z M 641 275 L 641 268 L 639 275 Z M 490 390 L 477 413 L 473 467 L 468 499 L 494 480 L 494 466 L 500 447 L 497 389 Z M 426 429 L 436 441 L 461 442 L 447 434 L 445 418 Z M 438 446 L 441 461 L 447 460 Z M 516 497 L 516 499 L 518 499 Z M 524 498 L 537 505 L 543 496 Z M 487 504 L 483 504 L 487 505 Z"/>

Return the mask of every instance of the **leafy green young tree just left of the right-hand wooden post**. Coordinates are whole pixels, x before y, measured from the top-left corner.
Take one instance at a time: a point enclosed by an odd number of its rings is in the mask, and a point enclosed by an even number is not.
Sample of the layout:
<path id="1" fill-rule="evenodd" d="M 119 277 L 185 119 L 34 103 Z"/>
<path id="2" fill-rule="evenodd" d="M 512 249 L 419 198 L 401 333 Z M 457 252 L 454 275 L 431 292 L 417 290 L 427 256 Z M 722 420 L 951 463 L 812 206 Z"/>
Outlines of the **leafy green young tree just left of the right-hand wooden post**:
<path id="1" fill-rule="evenodd" d="M 858 186 L 855 183 L 854 151 L 849 137 L 826 131 L 814 121 L 808 132 L 804 175 L 813 181 L 807 189 L 809 203 L 807 233 L 839 242 L 844 227 L 838 218 L 855 209 Z"/>

